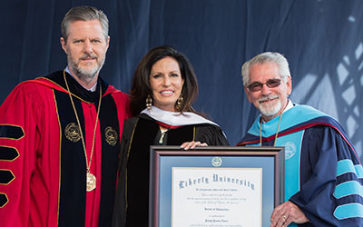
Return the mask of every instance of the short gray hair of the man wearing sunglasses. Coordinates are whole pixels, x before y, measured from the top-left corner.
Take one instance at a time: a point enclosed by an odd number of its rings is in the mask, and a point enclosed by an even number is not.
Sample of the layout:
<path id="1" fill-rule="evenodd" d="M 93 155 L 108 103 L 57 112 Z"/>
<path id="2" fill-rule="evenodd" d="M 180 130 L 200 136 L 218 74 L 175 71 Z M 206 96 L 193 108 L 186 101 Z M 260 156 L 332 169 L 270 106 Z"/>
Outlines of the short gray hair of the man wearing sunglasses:
<path id="1" fill-rule="evenodd" d="M 284 82 L 287 82 L 287 79 L 290 75 L 289 73 L 289 63 L 288 60 L 280 53 L 272 53 L 265 52 L 256 55 L 246 63 L 242 65 L 242 78 L 243 85 L 247 86 L 250 83 L 250 66 L 253 64 L 265 64 L 265 63 L 274 63 L 278 65 L 279 74 Z"/>

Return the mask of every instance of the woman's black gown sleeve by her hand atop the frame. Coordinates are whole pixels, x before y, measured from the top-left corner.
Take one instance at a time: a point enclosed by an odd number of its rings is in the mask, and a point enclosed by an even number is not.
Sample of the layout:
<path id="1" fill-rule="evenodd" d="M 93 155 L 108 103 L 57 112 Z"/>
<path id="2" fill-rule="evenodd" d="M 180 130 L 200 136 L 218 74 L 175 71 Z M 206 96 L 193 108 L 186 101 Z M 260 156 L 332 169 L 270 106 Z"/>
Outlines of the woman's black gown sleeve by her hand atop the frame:
<path id="1" fill-rule="evenodd" d="M 207 143 L 209 146 L 230 145 L 221 128 L 212 124 L 201 124 L 195 128 L 195 141 Z"/>

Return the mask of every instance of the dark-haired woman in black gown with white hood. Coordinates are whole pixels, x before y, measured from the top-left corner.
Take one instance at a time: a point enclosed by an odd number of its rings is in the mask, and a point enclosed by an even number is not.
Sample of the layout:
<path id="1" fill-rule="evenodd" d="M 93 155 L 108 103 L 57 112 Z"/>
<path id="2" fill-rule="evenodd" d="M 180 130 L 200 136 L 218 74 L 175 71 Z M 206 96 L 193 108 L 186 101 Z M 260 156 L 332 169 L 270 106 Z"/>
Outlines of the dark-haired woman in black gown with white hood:
<path id="1" fill-rule="evenodd" d="M 151 145 L 183 149 L 228 145 L 220 127 L 191 107 L 198 84 L 188 59 L 170 46 L 149 51 L 130 91 L 131 119 L 124 122 L 114 227 L 148 226 Z"/>

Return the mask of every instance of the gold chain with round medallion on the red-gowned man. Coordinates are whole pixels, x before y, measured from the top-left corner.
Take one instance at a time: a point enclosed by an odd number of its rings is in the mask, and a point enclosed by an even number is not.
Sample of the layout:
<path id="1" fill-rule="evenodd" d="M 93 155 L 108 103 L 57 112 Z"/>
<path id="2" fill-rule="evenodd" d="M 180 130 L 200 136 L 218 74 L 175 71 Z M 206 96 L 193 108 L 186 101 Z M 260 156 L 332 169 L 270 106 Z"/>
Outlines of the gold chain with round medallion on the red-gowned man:
<path id="1" fill-rule="evenodd" d="M 84 143 L 84 138 L 83 138 L 83 133 L 82 133 L 82 128 L 81 128 L 81 123 L 79 121 L 77 111 L 75 110 L 74 99 L 72 98 L 71 91 L 69 90 L 69 86 L 68 86 L 68 83 L 67 83 L 67 79 L 65 78 L 65 73 L 64 72 L 63 72 L 63 75 L 64 75 L 65 86 L 67 87 L 67 91 L 68 91 L 68 94 L 69 94 L 69 98 L 71 99 L 71 103 L 72 103 L 72 106 L 74 108 L 75 118 L 77 119 L 79 131 L 81 133 L 81 140 L 82 140 L 82 144 L 83 144 L 83 151 L 84 151 L 84 157 L 85 157 L 85 166 L 87 168 L 87 173 L 86 173 L 86 191 L 87 192 L 91 192 L 91 191 L 93 191 L 93 189 L 96 188 L 96 177 L 92 173 L 90 173 L 90 169 L 91 169 L 91 163 L 92 163 L 92 157 L 93 157 L 94 140 L 95 140 L 95 137 L 96 137 L 96 129 L 97 129 L 97 123 L 98 123 L 98 115 L 100 114 L 100 106 L 101 106 L 101 101 L 102 101 L 102 88 L 101 88 L 101 85 L 100 85 L 100 100 L 98 102 L 96 123 L 94 124 L 94 130 L 93 130 L 93 141 L 92 141 L 90 162 L 88 163 L 88 160 L 87 160 L 87 151 L 85 149 L 85 143 Z"/>

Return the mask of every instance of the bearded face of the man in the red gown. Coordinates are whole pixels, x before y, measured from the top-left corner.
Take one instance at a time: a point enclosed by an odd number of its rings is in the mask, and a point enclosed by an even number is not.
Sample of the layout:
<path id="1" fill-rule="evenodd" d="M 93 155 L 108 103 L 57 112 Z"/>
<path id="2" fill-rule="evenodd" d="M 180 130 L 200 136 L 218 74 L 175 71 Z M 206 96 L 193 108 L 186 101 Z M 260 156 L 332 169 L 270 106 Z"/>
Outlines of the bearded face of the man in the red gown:
<path id="1" fill-rule="evenodd" d="M 104 37 L 99 20 L 74 21 L 69 25 L 68 34 L 66 40 L 61 37 L 61 44 L 71 73 L 86 86 L 94 84 L 103 66 L 110 37 Z"/>

